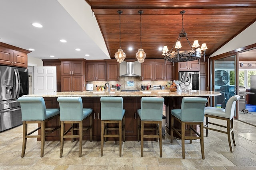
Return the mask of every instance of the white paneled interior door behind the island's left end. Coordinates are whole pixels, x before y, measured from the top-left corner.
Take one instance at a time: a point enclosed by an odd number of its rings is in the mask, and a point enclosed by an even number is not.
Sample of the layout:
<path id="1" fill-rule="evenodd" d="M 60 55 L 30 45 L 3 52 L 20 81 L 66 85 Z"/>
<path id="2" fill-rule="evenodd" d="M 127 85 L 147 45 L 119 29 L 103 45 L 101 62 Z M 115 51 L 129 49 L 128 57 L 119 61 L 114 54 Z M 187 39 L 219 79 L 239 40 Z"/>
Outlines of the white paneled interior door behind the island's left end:
<path id="1" fill-rule="evenodd" d="M 57 91 L 56 66 L 34 67 L 34 94 Z"/>

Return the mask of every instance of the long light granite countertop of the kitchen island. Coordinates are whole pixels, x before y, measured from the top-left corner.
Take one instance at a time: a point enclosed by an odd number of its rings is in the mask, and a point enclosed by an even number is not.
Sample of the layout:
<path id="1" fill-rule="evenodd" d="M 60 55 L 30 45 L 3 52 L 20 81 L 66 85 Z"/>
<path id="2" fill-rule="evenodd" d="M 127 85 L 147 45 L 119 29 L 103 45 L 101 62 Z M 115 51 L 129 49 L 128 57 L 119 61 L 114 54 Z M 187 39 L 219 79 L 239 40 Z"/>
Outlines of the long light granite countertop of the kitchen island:
<path id="1" fill-rule="evenodd" d="M 143 90 L 140 92 L 105 92 L 105 91 L 84 91 L 84 92 L 52 92 L 42 94 L 28 94 L 22 97 L 101 97 L 101 96 L 122 96 L 122 97 L 168 97 L 168 96 L 183 96 L 183 97 L 207 97 L 220 96 L 220 92 L 192 90 L 191 92 L 171 92 L 170 90 Z"/>

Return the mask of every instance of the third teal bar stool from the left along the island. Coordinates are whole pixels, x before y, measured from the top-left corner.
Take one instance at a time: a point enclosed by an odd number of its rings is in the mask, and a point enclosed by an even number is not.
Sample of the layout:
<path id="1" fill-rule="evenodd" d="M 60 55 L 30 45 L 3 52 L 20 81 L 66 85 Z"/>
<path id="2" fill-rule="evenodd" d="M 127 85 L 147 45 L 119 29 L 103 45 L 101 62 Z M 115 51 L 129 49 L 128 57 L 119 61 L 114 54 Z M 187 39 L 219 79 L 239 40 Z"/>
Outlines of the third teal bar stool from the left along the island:
<path id="1" fill-rule="evenodd" d="M 122 132 L 125 141 L 125 109 L 123 109 L 122 97 L 101 97 L 101 147 L 100 156 L 103 156 L 104 138 L 118 137 L 119 138 L 119 156 L 122 156 Z M 108 127 L 108 123 L 118 123 L 118 127 Z M 118 130 L 118 134 L 107 134 L 107 131 Z"/>

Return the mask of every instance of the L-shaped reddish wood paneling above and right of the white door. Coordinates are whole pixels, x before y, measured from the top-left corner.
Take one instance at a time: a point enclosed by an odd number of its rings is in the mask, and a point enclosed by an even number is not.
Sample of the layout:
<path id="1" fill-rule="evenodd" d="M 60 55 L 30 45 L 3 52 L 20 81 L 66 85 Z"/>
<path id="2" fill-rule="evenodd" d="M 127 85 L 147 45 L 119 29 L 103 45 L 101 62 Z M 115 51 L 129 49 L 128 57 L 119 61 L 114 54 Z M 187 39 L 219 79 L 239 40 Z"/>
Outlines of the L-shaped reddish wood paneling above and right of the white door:
<path id="1" fill-rule="evenodd" d="M 60 60 L 42 60 L 43 66 L 56 66 L 57 92 L 61 92 L 61 61 Z"/>

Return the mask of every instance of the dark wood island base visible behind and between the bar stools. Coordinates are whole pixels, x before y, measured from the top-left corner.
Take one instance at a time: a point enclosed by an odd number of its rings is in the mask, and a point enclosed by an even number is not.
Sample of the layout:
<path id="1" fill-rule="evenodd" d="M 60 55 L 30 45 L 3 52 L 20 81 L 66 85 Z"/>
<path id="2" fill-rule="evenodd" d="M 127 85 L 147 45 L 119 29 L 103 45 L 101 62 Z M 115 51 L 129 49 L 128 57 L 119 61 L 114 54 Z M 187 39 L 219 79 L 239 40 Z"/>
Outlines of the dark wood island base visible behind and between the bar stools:
<path id="1" fill-rule="evenodd" d="M 46 108 L 59 108 L 57 97 L 45 97 Z M 100 110 L 100 97 L 82 97 L 83 107 L 92 108 L 92 139 L 94 141 L 100 141 L 101 135 L 101 110 Z M 123 108 L 125 111 L 125 138 L 127 141 L 136 141 L 137 140 L 137 109 L 140 109 L 141 97 L 123 97 Z M 182 97 L 165 97 L 164 104 L 166 105 L 166 132 L 170 134 L 170 115 L 171 109 L 179 109 L 181 106 Z M 59 119 L 59 117 L 58 117 Z M 56 127 L 59 125 L 59 120 L 54 119 L 47 123 L 47 127 Z M 84 127 L 89 125 L 89 120 L 84 121 Z M 40 124 L 38 125 L 40 127 Z M 110 125 L 111 126 L 111 125 Z M 115 125 L 112 125 L 115 126 Z M 150 125 L 149 125 L 150 126 Z M 174 122 L 175 127 L 180 127 L 178 122 Z M 67 129 L 68 127 L 66 127 Z M 112 131 L 111 133 L 118 133 L 117 131 Z M 147 133 L 156 133 L 155 131 L 149 131 Z M 46 140 L 60 140 L 59 131 L 56 131 L 50 136 L 46 137 Z M 176 136 L 174 134 L 174 136 Z M 90 133 L 86 132 L 83 139 L 89 140 Z M 68 139 L 66 139 L 68 140 Z M 109 139 L 109 140 L 118 140 L 118 139 Z M 151 139 L 150 139 L 151 140 Z"/>

